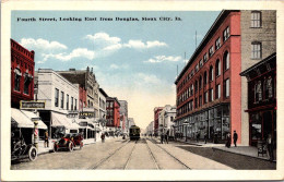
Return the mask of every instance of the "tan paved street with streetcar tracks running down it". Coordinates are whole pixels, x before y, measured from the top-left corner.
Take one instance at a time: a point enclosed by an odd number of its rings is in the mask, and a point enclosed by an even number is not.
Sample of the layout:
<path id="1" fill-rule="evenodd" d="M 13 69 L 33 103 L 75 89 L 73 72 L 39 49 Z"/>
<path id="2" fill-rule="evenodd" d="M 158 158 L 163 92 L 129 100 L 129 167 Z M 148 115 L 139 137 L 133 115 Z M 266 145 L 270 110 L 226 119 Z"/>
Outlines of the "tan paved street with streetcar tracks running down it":
<path id="1" fill-rule="evenodd" d="M 151 138 L 138 142 L 121 138 L 86 145 L 83 149 L 44 154 L 29 162 L 11 165 L 12 170 L 25 169 L 232 169 L 221 162 L 181 149 L 176 143 L 158 144 Z"/>

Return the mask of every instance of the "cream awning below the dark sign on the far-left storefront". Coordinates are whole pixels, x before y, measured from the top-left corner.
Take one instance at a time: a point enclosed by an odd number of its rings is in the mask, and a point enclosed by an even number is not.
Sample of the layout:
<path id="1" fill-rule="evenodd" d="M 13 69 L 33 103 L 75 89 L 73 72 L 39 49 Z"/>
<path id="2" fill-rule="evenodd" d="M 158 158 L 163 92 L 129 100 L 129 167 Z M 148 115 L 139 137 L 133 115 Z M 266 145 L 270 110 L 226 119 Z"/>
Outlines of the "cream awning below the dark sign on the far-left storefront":
<path id="1" fill-rule="evenodd" d="M 29 111 L 11 108 L 11 118 L 13 123 L 17 123 L 19 128 L 34 128 L 34 119 L 38 121 L 38 129 L 47 129 L 46 124 L 39 117 Z"/>

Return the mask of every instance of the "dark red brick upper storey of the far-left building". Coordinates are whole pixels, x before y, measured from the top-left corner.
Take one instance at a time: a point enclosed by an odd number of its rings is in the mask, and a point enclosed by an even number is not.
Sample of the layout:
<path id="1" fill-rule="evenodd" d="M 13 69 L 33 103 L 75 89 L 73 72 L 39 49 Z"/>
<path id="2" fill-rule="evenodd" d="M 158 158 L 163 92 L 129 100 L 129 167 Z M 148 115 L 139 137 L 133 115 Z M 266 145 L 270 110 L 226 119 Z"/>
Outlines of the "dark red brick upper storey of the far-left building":
<path id="1" fill-rule="evenodd" d="M 12 108 L 20 108 L 20 100 L 34 99 L 34 57 L 33 50 L 29 51 L 11 39 Z"/>

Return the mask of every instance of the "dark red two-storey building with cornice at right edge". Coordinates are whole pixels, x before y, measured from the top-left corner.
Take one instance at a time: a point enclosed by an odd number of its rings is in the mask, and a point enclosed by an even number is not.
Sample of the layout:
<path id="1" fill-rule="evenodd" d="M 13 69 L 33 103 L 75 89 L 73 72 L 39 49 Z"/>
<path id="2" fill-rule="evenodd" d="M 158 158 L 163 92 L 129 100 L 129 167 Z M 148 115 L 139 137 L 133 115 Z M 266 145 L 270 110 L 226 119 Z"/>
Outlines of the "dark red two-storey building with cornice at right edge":
<path id="1" fill-rule="evenodd" d="M 276 53 L 248 68 L 240 73 L 246 76 L 248 89 L 249 144 L 271 134 L 276 141 Z"/>

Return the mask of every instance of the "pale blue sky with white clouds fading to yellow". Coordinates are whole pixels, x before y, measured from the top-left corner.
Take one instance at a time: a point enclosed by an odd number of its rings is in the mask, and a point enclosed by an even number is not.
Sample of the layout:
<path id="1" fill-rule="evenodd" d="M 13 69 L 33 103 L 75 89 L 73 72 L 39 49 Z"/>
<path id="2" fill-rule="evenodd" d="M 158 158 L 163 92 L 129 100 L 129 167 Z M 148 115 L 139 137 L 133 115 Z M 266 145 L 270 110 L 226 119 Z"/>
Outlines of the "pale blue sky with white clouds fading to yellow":
<path id="1" fill-rule="evenodd" d="M 99 87 L 127 100 L 129 118 L 145 129 L 154 120 L 154 107 L 176 105 L 177 73 L 196 50 L 196 37 L 198 46 L 218 14 L 12 11 L 11 38 L 35 51 L 35 70 L 93 68 Z"/>

